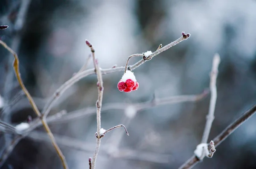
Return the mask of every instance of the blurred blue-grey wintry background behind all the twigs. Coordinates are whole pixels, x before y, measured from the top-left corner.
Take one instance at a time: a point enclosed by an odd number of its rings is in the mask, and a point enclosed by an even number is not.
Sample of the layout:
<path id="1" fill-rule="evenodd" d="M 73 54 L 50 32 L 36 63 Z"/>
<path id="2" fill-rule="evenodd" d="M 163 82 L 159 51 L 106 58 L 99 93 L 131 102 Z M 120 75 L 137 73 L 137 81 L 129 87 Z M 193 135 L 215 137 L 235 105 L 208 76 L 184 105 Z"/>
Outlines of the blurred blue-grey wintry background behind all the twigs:
<path id="1" fill-rule="evenodd" d="M 93 43 L 100 66 L 124 66 L 129 55 L 152 52 L 191 33 L 188 40 L 157 55 L 133 72 L 137 91 L 119 92 L 123 72 L 103 75 L 103 106 L 140 103 L 174 95 L 199 94 L 209 87 L 212 57 L 221 56 L 218 99 L 209 140 L 256 102 L 256 1 L 244 0 L 1 0 L 0 39 L 20 58 L 25 86 L 42 109 L 53 92 L 78 72 Z M 23 10 L 23 11 L 22 11 Z M 24 17 L 22 16 L 24 15 Z M 141 58 L 131 59 L 133 64 Z M 0 47 L 2 120 L 17 125 L 35 118 L 20 95 L 13 56 Z M 88 68 L 93 68 L 89 61 Z M 96 76 L 90 75 L 65 92 L 51 114 L 95 108 Z M 102 112 L 102 127 L 123 123 L 108 133 L 96 162 L 98 169 L 175 169 L 201 141 L 209 107 L 208 95 L 197 103 L 157 106 L 132 114 L 133 106 Z M 96 110 L 96 109 L 95 109 Z M 128 112 L 128 114 L 127 114 Z M 250 118 L 195 169 L 255 169 L 256 116 Z M 70 169 L 88 167 L 96 145 L 96 113 L 50 123 Z M 13 136 L 9 135 L 10 140 Z M 0 133 L 0 155 L 8 139 Z M 70 145 L 70 146 L 69 146 Z M 73 147 L 72 147 L 73 145 Z M 21 140 L 2 169 L 61 169 L 60 160 L 41 127 Z"/>

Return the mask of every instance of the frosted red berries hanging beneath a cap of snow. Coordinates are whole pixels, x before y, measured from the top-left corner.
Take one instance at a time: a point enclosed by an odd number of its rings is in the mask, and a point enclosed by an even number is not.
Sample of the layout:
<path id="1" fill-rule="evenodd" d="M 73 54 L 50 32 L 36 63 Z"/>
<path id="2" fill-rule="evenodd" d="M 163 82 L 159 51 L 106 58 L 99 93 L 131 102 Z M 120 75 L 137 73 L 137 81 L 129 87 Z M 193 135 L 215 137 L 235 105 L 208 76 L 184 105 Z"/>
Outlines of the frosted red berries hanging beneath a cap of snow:
<path id="1" fill-rule="evenodd" d="M 125 82 L 120 80 L 117 84 L 117 88 L 119 89 L 120 92 L 124 91 L 128 93 L 133 90 L 137 90 L 139 88 L 139 83 L 131 79 L 127 79 Z"/>

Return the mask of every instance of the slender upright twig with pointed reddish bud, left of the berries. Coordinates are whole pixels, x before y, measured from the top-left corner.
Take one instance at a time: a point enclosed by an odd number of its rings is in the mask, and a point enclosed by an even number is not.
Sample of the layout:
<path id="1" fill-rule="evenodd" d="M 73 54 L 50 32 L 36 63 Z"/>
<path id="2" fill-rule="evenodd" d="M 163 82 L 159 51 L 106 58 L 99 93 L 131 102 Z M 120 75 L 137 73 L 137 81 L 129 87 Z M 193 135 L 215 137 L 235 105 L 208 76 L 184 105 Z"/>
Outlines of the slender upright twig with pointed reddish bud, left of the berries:
<path id="1" fill-rule="evenodd" d="M 93 161 L 92 161 L 92 169 L 95 169 L 96 166 L 96 159 L 97 159 L 97 155 L 99 153 L 99 147 L 100 147 L 100 143 L 101 143 L 101 137 L 100 137 L 100 129 L 101 129 L 101 107 L 102 107 L 102 97 L 103 97 L 103 80 L 102 80 L 102 72 L 101 69 L 99 68 L 99 64 L 98 64 L 98 60 L 96 60 L 95 58 L 95 51 L 93 49 L 92 44 L 88 41 L 85 40 L 85 43 L 87 44 L 87 46 L 90 47 L 91 52 L 92 52 L 92 56 L 93 56 L 93 65 L 95 68 L 95 72 L 97 75 L 97 86 L 98 86 L 98 100 L 96 101 L 96 108 L 97 108 L 97 135 L 96 135 L 96 149 L 95 152 L 93 154 Z"/>

